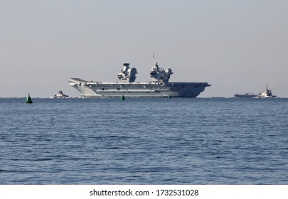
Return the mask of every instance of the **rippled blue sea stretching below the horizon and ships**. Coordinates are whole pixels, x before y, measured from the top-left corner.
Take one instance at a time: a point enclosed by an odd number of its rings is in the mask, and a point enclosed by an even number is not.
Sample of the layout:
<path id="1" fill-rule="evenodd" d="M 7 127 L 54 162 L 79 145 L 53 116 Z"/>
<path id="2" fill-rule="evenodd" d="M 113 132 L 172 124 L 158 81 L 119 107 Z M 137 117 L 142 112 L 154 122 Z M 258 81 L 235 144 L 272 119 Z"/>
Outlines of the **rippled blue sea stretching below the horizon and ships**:
<path id="1" fill-rule="evenodd" d="M 0 99 L 0 184 L 288 184 L 288 99 Z"/>

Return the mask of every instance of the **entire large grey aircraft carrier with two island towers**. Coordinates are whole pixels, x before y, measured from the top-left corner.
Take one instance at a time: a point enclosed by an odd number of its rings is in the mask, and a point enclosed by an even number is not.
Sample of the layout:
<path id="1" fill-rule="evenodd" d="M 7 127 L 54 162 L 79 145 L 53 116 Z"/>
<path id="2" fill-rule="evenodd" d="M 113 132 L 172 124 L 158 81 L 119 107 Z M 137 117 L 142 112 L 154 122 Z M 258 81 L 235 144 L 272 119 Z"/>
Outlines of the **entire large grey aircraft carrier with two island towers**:
<path id="1" fill-rule="evenodd" d="M 136 74 L 136 68 L 124 63 L 117 75 L 118 82 L 88 82 L 71 78 L 69 84 L 82 97 L 197 97 L 210 86 L 207 82 L 169 82 L 172 70 L 159 68 L 158 63 L 151 68 L 149 82 L 135 82 Z"/>

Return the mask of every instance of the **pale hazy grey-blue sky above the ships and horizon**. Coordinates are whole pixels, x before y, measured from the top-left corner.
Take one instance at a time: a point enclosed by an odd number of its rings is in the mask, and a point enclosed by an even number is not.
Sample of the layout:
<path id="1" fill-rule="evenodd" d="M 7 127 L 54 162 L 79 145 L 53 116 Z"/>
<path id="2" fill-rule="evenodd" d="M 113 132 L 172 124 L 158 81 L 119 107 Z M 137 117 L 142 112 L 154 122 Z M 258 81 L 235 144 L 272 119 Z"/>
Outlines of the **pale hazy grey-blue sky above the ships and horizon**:
<path id="1" fill-rule="evenodd" d="M 123 63 L 150 80 L 209 82 L 199 97 L 288 97 L 287 0 L 0 0 L 0 97 L 80 92 L 70 77 L 117 81 Z"/>

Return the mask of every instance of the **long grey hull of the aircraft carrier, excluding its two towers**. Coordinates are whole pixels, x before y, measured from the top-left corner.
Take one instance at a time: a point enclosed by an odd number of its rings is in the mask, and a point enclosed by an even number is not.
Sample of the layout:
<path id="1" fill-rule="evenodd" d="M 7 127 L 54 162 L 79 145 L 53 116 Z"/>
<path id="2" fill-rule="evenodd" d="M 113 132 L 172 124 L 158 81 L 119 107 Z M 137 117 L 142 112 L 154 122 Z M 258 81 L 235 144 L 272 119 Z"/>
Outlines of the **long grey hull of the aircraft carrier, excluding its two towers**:
<path id="1" fill-rule="evenodd" d="M 207 82 L 88 82 L 71 78 L 70 86 L 82 97 L 197 97 L 210 85 Z"/>

